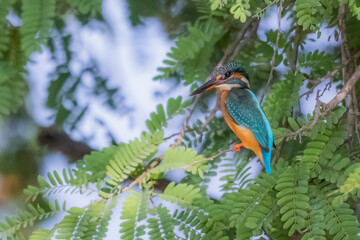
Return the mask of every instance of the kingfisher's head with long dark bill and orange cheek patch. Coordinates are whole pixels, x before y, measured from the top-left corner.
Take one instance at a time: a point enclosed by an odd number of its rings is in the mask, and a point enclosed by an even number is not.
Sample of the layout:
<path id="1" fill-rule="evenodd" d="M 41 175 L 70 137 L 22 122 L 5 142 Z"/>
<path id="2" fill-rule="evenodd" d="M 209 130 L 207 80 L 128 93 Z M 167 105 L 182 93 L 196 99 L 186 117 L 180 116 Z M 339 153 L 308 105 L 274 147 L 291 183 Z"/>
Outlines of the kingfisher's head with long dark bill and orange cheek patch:
<path id="1" fill-rule="evenodd" d="M 249 75 L 246 73 L 245 67 L 240 63 L 229 62 L 216 69 L 210 80 L 196 89 L 191 95 L 196 95 L 215 87 L 220 90 L 230 90 L 233 87 L 250 88 Z"/>

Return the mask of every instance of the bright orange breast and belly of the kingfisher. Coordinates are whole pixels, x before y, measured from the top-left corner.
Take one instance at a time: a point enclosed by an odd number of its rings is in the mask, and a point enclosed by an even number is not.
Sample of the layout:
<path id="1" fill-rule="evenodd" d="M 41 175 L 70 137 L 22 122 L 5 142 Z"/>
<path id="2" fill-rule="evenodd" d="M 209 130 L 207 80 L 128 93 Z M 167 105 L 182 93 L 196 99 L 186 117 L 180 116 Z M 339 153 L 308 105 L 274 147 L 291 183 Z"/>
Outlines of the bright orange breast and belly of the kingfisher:
<path id="1" fill-rule="evenodd" d="M 229 116 L 226 110 L 226 98 L 229 91 L 221 91 L 221 111 L 223 113 L 226 123 L 229 125 L 231 130 L 236 134 L 236 136 L 241 140 L 244 147 L 252 150 L 256 156 L 263 163 L 263 156 L 261 153 L 261 147 L 258 141 L 256 141 L 254 134 L 247 128 L 239 126 L 236 122 Z"/>

